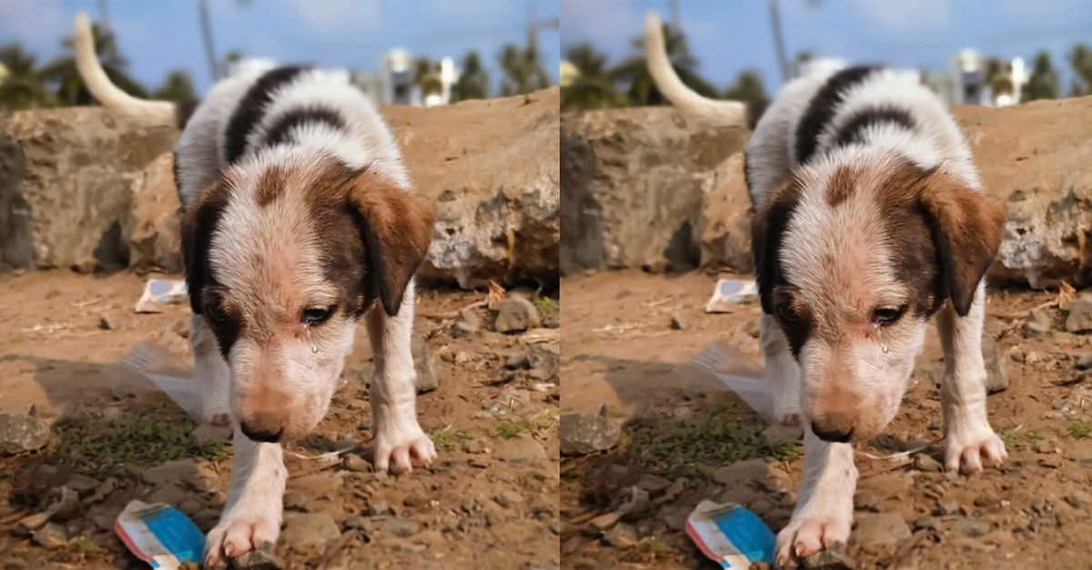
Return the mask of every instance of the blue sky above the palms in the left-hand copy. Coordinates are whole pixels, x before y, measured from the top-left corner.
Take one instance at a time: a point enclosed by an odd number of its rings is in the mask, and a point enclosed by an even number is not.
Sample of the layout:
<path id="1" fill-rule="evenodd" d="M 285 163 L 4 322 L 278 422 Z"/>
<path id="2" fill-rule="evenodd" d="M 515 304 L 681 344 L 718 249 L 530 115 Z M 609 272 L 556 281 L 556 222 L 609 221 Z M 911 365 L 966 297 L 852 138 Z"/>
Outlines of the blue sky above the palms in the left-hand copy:
<path id="1" fill-rule="evenodd" d="M 129 70 L 156 86 L 167 71 L 186 69 L 199 93 L 211 84 L 195 0 L 106 0 Z M 78 10 L 98 20 L 98 0 L 0 0 L 0 45 L 19 41 L 44 63 L 61 52 Z M 496 85 L 496 56 L 507 43 L 526 41 L 529 7 L 556 19 L 556 0 L 210 0 L 217 52 L 238 49 L 281 62 L 310 62 L 375 71 L 380 55 L 402 47 L 414 56 L 452 56 L 477 49 Z M 543 67 L 554 81 L 558 31 L 543 29 Z"/>

